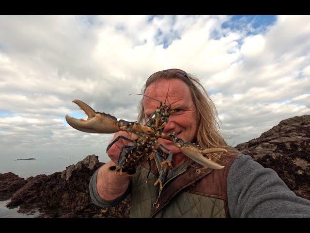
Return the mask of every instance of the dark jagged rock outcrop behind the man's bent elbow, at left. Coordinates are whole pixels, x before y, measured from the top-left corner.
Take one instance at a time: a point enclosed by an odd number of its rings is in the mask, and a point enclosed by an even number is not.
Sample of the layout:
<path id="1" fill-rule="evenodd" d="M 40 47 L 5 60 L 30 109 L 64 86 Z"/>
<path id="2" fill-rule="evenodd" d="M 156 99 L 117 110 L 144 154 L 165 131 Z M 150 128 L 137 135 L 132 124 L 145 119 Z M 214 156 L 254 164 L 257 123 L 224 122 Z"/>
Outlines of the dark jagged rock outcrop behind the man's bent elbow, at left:
<path id="1" fill-rule="evenodd" d="M 89 155 L 62 172 L 30 177 L 7 207 L 20 205 L 21 213 L 38 209 L 45 213 L 40 217 L 129 217 L 130 196 L 112 208 L 100 208 L 90 198 L 90 179 L 103 164 Z"/>

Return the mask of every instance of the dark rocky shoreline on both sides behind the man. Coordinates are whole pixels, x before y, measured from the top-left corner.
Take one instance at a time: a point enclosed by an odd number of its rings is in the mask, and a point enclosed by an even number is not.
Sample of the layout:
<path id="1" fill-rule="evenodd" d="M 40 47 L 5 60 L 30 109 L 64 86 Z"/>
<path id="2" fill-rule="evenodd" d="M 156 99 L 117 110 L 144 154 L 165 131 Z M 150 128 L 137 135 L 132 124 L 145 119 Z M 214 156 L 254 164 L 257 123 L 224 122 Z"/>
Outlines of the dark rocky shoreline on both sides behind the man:
<path id="1" fill-rule="evenodd" d="M 279 125 L 235 147 L 264 167 L 274 169 L 297 196 L 310 200 L 310 115 L 282 120 Z M 89 195 L 89 181 L 100 166 L 98 156 L 88 155 L 62 172 L 23 179 L 0 174 L 0 200 L 18 213 L 36 217 L 129 217 L 131 196 L 117 206 L 100 208 Z"/>

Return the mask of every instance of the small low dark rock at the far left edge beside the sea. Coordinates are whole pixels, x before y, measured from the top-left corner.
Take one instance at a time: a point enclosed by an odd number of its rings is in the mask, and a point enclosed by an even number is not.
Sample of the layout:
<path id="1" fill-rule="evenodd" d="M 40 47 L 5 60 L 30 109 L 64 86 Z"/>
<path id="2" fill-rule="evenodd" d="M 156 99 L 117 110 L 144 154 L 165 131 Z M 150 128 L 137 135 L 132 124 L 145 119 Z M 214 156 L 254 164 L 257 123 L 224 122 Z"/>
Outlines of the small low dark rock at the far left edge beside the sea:
<path id="1" fill-rule="evenodd" d="M 0 201 L 8 200 L 27 181 L 12 172 L 0 174 Z"/>

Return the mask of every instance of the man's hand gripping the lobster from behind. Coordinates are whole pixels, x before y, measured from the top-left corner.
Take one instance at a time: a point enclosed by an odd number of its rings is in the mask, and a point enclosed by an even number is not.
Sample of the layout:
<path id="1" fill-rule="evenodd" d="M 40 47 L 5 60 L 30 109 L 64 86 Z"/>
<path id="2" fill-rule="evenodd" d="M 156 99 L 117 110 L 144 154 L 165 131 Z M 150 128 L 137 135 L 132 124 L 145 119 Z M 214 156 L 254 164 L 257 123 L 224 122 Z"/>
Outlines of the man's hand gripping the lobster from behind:
<path id="1" fill-rule="evenodd" d="M 131 140 L 137 140 L 138 139 L 138 136 L 134 133 L 127 133 L 125 131 L 120 131 L 120 132 L 117 132 L 114 134 L 112 140 L 109 142 L 109 145 L 111 142 L 113 142 L 118 136 L 124 136 L 128 139 L 131 139 Z M 117 142 L 115 142 L 113 144 L 113 146 L 111 146 L 107 152 L 109 158 L 114 162 L 114 164 L 116 164 L 116 160 L 120 154 L 120 151 L 121 151 L 121 148 L 123 146 L 133 146 L 135 145 L 135 143 L 133 142 L 130 142 L 130 141 L 127 141 L 123 138 L 120 138 L 119 140 L 117 140 Z"/>

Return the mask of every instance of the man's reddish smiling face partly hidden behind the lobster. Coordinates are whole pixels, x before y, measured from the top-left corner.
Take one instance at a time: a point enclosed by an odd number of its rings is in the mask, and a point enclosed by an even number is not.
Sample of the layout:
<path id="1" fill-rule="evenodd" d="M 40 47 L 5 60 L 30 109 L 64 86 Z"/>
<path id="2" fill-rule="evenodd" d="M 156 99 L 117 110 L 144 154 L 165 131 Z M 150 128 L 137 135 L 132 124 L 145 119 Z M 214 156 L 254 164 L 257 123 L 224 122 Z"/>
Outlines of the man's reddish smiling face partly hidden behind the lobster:
<path id="1" fill-rule="evenodd" d="M 145 95 L 156 100 L 161 100 L 164 103 L 168 86 L 169 103 L 176 102 L 171 105 L 172 109 L 174 109 L 174 113 L 169 117 L 169 122 L 165 126 L 163 133 L 174 132 L 185 142 L 190 142 L 194 138 L 197 131 L 197 116 L 196 108 L 191 98 L 189 87 L 186 83 L 179 79 L 159 80 L 148 86 L 145 91 Z M 159 102 L 156 100 L 144 97 L 143 107 L 146 121 L 159 105 Z M 169 103 L 166 101 L 166 104 Z M 174 154 L 180 152 L 180 149 L 176 148 L 169 140 L 160 138 L 157 141 L 159 144 L 162 144 L 164 147 L 171 150 Z"/>

